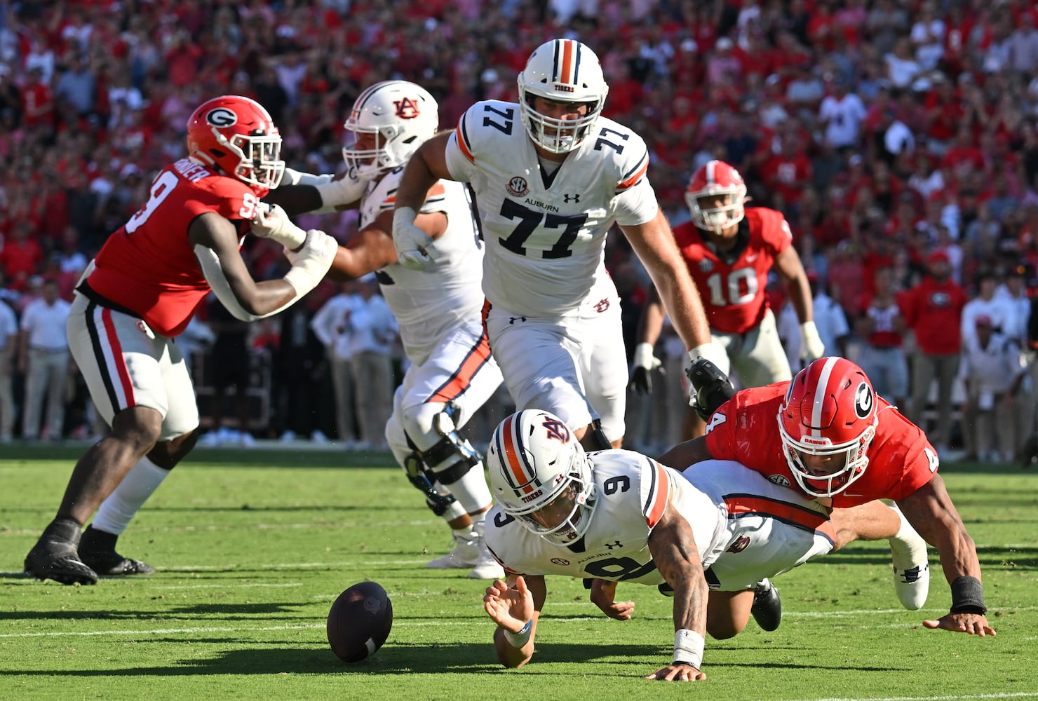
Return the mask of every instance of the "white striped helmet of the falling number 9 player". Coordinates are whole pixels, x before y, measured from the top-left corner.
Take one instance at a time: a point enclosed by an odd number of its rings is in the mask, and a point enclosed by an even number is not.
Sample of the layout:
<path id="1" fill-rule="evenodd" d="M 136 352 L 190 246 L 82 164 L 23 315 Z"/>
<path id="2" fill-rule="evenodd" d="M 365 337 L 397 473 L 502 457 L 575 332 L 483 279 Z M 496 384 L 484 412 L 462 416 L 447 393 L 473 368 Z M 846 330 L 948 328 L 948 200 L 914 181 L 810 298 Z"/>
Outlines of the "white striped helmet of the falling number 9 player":
<path id="1" fill-rule="evenodd" d="M 580 442 L 554 414 L 524 410 L 494 430 L 490 488 L 504 513 L 556 545 L 579 540 L 595 506 L 595 479 Z"/>

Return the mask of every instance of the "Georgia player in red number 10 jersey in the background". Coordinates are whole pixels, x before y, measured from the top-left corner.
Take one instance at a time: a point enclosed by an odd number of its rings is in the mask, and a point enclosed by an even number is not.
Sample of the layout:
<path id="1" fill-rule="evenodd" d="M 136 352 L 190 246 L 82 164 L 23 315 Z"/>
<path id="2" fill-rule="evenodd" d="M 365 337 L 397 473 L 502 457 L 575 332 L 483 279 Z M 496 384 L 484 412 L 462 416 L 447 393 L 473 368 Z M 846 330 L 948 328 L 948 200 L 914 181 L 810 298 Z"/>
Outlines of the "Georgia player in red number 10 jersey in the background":
<path id="1" fill-rule="evenodd" d="M 824 346 L 815 329 L 811 285 L 793 248 L 789 224 L 774 209 L 745 208 L 747 199 L 739 171 L 723 161 L 704 164 L 685 192 L 692 219 L 675 227 L 674 239 L 703 300 L 713 340 L 727 352 L 718 368 L 729 374 L 734 367 L 743 387 L 759 387 L 793 376 L 768 306 L 772 268 L 785 282 L 800 320 L 804 355 L 814 360 Z M 653 346 L 663 314 L 659 298 L 650 289 L 631 376 L 632 388 L 639 392 L 651 391 L 650 373 L 659 366 Z M 695 420 L 692 434 L 702 433 L 703 422 Z"/>

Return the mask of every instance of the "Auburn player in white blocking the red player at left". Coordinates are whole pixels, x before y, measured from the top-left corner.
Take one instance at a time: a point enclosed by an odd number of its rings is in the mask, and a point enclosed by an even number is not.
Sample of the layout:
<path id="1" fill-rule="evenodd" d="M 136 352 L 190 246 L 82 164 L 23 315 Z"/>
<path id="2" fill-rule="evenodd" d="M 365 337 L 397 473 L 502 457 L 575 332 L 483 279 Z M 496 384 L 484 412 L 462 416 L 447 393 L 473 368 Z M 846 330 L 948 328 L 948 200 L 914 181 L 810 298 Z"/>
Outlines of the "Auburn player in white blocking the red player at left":
<path id="1" fill-rule="evenodd" d="M 357 97 L 344 124 L 344 177 L 290 170 L 288 186 L 267 200 L 284 205 L 272 217 L 359 206 L 360 230 L 339 248 L 330 278 L 375 272 L 400 324 L 411 361 L 393 396 L 386 441 L 429 508 L 450 526 L 455 548 L 429 563 L 471 568 L 474 579 L 501 576 L 483 538 L 492 500 L 483 458 L 459 429 L 501 384 L 490 357 L 481 312 L 483 242 L 465 186 L 439 180 L 430 189 L 416 223 L 440 255 L 424 271 L 401 265 L 392 244 L 392 206 L 404 164 L 439 124 L 436 100 L 419 85 L 376 83 Z M 294 225 L 284 220 L 286 228 Z M 282 235 L 278 231 L 277 235 Z"/>

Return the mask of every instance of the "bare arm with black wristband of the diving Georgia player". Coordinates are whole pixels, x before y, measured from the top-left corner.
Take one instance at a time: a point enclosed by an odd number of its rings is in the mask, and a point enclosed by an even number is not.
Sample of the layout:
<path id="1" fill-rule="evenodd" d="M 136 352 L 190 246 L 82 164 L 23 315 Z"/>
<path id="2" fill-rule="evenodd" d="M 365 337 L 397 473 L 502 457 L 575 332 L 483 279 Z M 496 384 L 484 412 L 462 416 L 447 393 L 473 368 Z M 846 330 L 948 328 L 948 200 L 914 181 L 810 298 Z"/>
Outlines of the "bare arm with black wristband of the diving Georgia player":
<path id="1" fill-rule="evenodd" d="M 952 586 L 951 611 L 938 619 L 923 621 L 923 625 L 982 637 L 995 635 L 985 615 L 977 546 L 945 488 L 945 480 L 934 475 L 897 504 L 908 523 L 937 549 L 945 578 Z"/>

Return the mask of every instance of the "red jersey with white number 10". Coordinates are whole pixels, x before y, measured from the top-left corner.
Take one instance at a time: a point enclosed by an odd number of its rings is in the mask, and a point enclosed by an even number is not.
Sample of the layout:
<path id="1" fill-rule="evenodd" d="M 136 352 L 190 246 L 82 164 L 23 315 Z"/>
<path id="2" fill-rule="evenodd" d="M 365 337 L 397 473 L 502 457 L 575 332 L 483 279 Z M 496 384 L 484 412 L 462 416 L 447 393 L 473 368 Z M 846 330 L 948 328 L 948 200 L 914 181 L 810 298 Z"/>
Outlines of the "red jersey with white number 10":
<path id="1" fill-rule="evenodd" d="M 768 272 L 778 254 L 792 245 L 793 235 L 782 214 L 767 207 L 747 208 L 736 235 L 740 241 L 731 252 L 736 256 L 733 260 L 727 253 L 718 255 L 692 222 L 674 229 L 710 328 L 743 334 L 764 318 Z"/>

